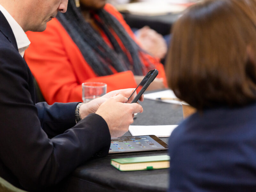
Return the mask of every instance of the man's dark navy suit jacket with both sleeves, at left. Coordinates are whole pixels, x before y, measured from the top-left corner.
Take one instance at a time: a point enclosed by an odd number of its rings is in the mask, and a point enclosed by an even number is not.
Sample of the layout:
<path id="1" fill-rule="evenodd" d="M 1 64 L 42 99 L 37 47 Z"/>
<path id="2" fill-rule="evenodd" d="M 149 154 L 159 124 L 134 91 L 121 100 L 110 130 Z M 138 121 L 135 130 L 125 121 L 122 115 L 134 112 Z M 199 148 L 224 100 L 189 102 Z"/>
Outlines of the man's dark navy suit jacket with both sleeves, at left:
<path id="1" fill-rule="evenodd" d="M 19 188 L 40 190 L 97 152 L 106 155 L 107 123 L 91 114 L 76 124 L 76 104 L 35 104 L 31 72 L 0 12 L 0 176 Z"/>

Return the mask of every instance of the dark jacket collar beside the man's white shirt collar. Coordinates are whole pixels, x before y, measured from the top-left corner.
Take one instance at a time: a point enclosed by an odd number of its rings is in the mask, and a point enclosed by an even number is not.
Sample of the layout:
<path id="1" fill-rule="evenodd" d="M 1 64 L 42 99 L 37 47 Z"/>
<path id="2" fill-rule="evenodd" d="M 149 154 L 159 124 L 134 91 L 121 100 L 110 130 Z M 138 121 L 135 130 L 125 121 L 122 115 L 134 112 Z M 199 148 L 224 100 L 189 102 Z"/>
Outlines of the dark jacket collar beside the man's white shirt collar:
<path id="1" fill-rule="evenodd" d="M 0 31 L 4 34 L 4 36 L 6 36 L 6 38 L 11 42 L 11 44 L 18 51 L 17 42 L 12 32 L 12 28 L 9 25 L 8 21 L 5 19 L 4 14 L 1 11 L 0 11 Z"/>

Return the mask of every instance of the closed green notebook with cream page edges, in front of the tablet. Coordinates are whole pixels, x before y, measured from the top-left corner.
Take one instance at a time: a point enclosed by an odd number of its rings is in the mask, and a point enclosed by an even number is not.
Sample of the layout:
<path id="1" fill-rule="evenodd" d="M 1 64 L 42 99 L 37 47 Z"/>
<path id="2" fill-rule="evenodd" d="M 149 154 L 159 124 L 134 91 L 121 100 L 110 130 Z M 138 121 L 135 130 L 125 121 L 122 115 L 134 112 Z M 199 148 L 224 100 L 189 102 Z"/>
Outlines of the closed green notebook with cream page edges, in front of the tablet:
<path id="1" fill-rule="evenodd" d="M 110 164 L 120 171 L 164 169 L 170 166 L 170 156 L 157 155 L 111 159 Z"/>

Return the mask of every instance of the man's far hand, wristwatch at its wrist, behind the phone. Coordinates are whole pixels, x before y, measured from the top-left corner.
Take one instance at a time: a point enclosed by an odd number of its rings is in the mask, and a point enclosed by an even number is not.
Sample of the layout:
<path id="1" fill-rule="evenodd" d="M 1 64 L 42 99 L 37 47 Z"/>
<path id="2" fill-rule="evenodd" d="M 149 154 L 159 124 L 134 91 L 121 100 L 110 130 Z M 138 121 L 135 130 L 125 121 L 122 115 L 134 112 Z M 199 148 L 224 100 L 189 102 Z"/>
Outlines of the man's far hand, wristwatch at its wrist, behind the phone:
<path id="1" fill-rule="evenodd" d="M 111 97 L 115 97 L 116 95 L 123 95 L 124 97 L 126 98 L 129 98 L 130 95 L 132 94 L 132 92 L 134 91 L 135 89 L 131 88 L 131 89 L 120 89 L 120 90 L 115 90 L 115 91 L 112 91 L 112 92 L 109 92 L 105 95 L 103 95 L 102 97 L 100 98 L 97 98 L 97 99 L 94 99 L 94 100 L 91 100 L 90 102 L 88 103 L 84 103 L 83 105 L 81 105 L 80 107 L 80 115 L 81 115 L 81 118 L 83 119 L 84 117 L 86 117 L 87 115 L 89 115 L 90 113 L 95 113 L 98 108 L 100 107 L 100 105 L 102 103 L 104 103 L 105 101 L 107 101 L 109 98 Z M 133 98 L 136 96 L 137 94 L 133 94 L 130 101 L 133 100 Z M 142 95 L 140 97 L 140 101 L 143 101 L 144 100 L 144 96 Z"/>

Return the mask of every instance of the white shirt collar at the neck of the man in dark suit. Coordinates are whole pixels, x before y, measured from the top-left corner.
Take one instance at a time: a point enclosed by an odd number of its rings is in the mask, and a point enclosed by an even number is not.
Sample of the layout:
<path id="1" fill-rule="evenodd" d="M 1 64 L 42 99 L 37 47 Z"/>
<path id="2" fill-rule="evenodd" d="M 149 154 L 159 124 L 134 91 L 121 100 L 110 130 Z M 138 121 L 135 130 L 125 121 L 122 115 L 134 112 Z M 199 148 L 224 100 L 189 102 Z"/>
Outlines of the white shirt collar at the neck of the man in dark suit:
<path id="1" fill-rule="evenodd" d="M 20 27 L 17 21 L 13 19 L 10 13 L 8 13 L 2 5 L 0 5 L 0 11 L 4 14 L 4 17 L 11 26 L 12 32 L 17 42 L 19 53 L 23 57 L 25 50 L 28 48 L 28 45 L 30 44 L 30 41 L 28 40 L 26 33 L 23 31 L 23 29 Z"/>

